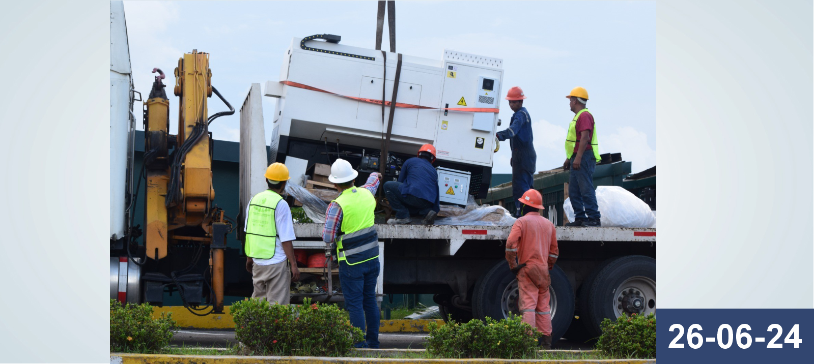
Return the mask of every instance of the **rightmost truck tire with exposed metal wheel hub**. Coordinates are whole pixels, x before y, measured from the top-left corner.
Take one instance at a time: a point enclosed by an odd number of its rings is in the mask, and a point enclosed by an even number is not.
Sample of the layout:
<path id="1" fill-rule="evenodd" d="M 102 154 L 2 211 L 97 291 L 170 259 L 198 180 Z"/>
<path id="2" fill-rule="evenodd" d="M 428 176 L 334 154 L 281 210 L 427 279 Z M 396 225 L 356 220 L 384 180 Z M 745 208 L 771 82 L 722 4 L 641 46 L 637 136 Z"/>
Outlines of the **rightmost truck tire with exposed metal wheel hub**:
<path id="1" fill-rule="evenodd" d="M 616 258 L 597 272 L 587 289 L 582 314 L 590 337 L 602 335 L 602 319 L 615 320 L 623 313 L 655 314 L 656 260 L 643 255 Z"/>

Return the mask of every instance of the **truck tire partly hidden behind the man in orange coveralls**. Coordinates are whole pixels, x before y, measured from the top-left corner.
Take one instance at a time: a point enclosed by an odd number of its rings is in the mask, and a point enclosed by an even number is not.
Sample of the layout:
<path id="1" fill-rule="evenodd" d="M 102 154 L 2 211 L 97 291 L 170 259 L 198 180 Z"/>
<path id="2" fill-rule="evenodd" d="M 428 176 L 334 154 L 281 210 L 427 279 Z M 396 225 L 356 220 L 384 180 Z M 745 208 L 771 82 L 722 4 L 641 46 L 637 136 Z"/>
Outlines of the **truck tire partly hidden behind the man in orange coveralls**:
<path id="1" fill-rule="evenodd" d="M 574 290 L 565 272 L 554 266 L 551 274 L 551 332 L 552 343 L 559 340 L 571 325 L 574 315 Z M 497 262 L 475 284 L 472 313 L 475 319 L 505 319 L 509 313 L 519 314 L 517 279 L 505 261 Z"/>

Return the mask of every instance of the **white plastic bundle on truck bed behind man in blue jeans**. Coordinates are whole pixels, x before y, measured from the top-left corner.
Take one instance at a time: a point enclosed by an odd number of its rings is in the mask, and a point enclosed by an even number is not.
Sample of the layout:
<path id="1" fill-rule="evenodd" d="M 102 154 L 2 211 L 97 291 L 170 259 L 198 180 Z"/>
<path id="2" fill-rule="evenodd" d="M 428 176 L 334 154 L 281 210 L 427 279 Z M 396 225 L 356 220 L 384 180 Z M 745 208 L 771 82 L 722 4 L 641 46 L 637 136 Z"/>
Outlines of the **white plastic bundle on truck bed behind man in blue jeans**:
<path id="1" fill-rule="evenodd" d="M 656 215 L 645 202 L 619 186 L 597 187 L 597 205 L 606 228 L 655 228 Z M 562 204 L 568 221 L 574 221 L 571 198 Z"/>

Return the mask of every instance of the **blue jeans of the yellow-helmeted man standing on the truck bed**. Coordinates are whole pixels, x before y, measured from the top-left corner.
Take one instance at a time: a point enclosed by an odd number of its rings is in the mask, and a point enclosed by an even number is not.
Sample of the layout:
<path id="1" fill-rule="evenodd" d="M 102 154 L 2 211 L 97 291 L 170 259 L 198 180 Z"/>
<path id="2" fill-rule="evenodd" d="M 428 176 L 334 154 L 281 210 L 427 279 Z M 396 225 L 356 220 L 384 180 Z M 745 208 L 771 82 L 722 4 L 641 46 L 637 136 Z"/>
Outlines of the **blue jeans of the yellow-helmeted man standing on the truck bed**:
<path id="1" fill-rule="evenodd" d="M 593 189 L 593 170 L 597 160 L 593 151 L 585 150 L 582 154 L 580 170 L 574 169 L 576 153 L 571 157 L 571 180 L 568 181 L 568 197 L 574 208 L 575 218 L 598 220 L 602 217 L 597 206 L 597 191 Z"/>

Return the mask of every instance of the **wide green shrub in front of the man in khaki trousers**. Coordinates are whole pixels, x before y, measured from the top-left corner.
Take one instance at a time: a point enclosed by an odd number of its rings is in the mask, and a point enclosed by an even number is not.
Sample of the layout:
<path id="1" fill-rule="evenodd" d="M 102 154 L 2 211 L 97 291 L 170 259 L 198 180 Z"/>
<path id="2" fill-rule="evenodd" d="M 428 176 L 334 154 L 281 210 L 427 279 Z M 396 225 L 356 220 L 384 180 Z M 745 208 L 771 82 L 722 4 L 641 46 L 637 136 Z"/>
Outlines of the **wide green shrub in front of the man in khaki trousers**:
<path id="1" fill-rule="evenodd" d="M 338 357 L 347 355 L 364 334 L 336 305 L 269 305 L 247 298 L 231 306 L 235 338 L 254 355 Z"/>

